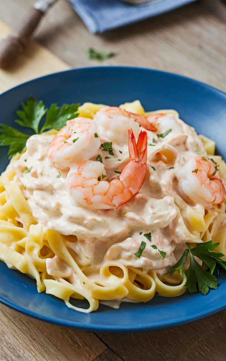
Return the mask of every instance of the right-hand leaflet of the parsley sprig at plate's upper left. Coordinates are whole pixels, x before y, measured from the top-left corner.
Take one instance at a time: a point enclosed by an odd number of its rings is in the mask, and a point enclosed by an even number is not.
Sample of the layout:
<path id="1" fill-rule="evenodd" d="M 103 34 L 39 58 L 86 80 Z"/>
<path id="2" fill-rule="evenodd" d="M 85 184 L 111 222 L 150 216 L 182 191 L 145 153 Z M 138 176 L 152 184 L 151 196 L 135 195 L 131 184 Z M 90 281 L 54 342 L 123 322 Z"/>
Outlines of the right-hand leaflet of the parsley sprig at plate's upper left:
<path id="1" fill-rule="evenodd" d="M 50 109 L 47 110 L 46 122 L 43 125 L 40 133 L 46 129 L 60 130 L 66 125 L 67 120 L 77 118 L 78 113 L 74 114 L 78 110 L 80 104 L 63 104 L 61 107 L 57 107 L 56 104 L 52 104 Z"/>

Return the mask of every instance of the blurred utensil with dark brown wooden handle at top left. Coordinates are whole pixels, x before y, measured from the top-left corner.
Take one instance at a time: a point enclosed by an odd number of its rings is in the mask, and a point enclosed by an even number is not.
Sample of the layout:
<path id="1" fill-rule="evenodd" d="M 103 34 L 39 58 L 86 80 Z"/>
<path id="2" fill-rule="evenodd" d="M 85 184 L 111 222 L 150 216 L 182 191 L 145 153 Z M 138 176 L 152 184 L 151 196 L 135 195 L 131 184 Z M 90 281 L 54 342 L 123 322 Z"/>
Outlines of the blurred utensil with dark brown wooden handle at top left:
<path id="1" fill-rule="evenodd" d="M 11 32 L 8 38 L 0 43 L 0 68 L 7 68 L 12 65 L 18 55 L 24 51 L 29 42 L 29 38 L 37 27 L 43 14 L 57 0 L 38 0 L 33 9 L 21 21 L 21 23 Z"/>

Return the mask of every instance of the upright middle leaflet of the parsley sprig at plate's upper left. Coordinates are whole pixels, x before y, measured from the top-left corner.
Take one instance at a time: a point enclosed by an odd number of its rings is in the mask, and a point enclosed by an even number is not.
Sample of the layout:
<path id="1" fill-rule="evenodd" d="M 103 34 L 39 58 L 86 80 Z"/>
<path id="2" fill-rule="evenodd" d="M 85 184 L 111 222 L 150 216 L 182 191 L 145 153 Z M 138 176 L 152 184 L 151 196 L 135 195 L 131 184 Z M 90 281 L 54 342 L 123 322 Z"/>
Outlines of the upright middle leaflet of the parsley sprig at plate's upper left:
<path id="1" fill-rule="evenodd" d="M 16 123 L 22 127 L 31 128 L 38 134 L 40 120 L 46 114 L 47 108 L 45 108 L 42 101 L 37 102 L 33 96 L 30 96 L 27 104 L 22 103 L 21 105 L 24 110 L 18 110 L 17 115 L 21 120 L 16 120 Z"/>

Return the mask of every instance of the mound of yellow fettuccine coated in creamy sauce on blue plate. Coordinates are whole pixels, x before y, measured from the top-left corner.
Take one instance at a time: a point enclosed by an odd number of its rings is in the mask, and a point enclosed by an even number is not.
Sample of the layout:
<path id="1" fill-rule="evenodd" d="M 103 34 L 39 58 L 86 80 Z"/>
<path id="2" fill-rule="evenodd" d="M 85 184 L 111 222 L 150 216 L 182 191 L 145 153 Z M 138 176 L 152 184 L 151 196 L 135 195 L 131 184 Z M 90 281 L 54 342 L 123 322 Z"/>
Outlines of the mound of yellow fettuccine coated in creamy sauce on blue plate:
<path id="1" fill-rule="evenodd" d="M 105 134 L 98 153 L 88 162 L 92 166 L 98 162 L 102 178 L 116 179 L 129 162 L 127 128 L 118 130 L 116 124 L 106 130 L 110 124 L 103 120 L 106 107 L 84 103 L 78 111 L 80 117 L 97 124 L 94 140 Z M 213 242 L 220 242 L 217 251 L 226 253 L 225 199 L 208 201 L 199 190 L 201 186 L 197 190 L 190 187 L 183 173 L 188 172 L 189 162 L 198 162 L 197 155 L 206 162 L 205 157 L 211 155 L 209 162 L 213 167 L 219 165 L 215 169 L 225 186 L 226 164 L 213 155 L 215 143 L 197 136 L 175 110 L 145 112 L 138 100 L 117 109 L 137 114 L 143 122 L 146 118 L 155 127 L 155 131 L 146 129 L 144 184 L 117 209 L 91 208 L 73 199 L 77 193 L 65 185 L 69 168 L 60 168 L 58 161 L 47 157 L 57 134 L 54 129 L 31 136 L 24 151 L 13 157 L 0 177 L 0 259 L 34 277 L 38 292 L 45 290 L 69 308 L 85 313 L 97 310 L 99 301 L 104 300 L 147 302 L 156 292 L 167 297 L 181 295 L 186 290 L 186 274 L 182 278 L 179 271 L 166 273 L 182 256 L 186 242 L 192 247 L 213 238 Z M 100 111 L 102 118 L 98 118 Z M 138 136 L 144 127 L 139 127 L 136 119 L 131 124 Z M 111 137 L 117 138 L 114 132 L 125 142 L 111 141 Z M 197 175 L 194 167 L 191 177 Z M 74 306 L 73 299 L 86 299 L 89 308 Z"/>

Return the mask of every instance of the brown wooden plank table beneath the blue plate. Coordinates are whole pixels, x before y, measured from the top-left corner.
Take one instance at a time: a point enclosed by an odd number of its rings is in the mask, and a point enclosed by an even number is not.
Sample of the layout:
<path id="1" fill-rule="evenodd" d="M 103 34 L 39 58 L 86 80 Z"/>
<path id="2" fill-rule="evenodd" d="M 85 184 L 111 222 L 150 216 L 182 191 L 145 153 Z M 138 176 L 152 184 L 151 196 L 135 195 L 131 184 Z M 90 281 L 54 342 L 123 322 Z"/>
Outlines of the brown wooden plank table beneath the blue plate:
<path id="1" fill-rule="evenodd" d="M 14 26 L 32 2 L 0 0 L 0 19 Z M 154 19 L 92 35 L 71 6 L 59 0 L 35 39 L 73 67 L 99 65 L 86 58 L 86 48 L 94 47 L 119 51 L 103 65 L 167 70 L 226 91 L 225 34 L 226 25 L 197 1 Z M 63 62 L 60 66 L 67 68 Z M 225 361 L 225 337 L 226 310 L 167 330 L 103 334 L 49 325 L 0 305 L 1 361 Z"/>

